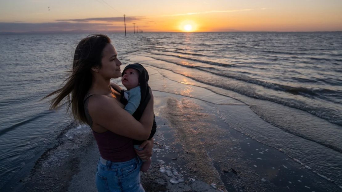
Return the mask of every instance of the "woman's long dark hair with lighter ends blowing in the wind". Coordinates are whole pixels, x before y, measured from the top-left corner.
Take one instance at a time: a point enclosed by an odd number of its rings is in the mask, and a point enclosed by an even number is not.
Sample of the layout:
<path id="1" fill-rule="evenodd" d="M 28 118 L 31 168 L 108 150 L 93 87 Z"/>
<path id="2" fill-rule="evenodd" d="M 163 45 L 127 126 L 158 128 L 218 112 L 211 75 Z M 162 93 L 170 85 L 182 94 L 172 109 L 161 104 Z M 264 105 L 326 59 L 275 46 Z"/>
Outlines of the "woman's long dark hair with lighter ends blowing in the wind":
<path id="1" fill-rule="evenodd" d="M 102 51 L 110 43 L 106 35 L 90 35 L 82 39 L 75 50 L 73 69 L 69 77 L 64 81 L 64 86 L 43 99 L 56 95 L 50 100 L 50 109 L 60 106 L 62 100 L 66 98 L 67 110 L 70 110 L 76 121 L 88 123 L 84 111 L 84 97 L 92 84 L 92 67 L 101 68 Z"/>

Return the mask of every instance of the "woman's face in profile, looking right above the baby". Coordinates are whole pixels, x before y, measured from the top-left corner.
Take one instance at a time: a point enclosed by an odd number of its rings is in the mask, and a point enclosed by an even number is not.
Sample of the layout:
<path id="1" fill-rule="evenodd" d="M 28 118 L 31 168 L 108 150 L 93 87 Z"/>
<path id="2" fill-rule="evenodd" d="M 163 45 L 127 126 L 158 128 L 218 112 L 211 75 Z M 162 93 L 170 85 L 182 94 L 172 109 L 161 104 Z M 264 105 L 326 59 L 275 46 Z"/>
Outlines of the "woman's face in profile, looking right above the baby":
<path id="1" fill-rule="evenodd" d="M 118 59 L 118 52 L 114 46 L 108 43 L 102 51 L 102 67 L 98 70 L 105 79 L 121 77 L 120 65 L 121 61 Z"/>

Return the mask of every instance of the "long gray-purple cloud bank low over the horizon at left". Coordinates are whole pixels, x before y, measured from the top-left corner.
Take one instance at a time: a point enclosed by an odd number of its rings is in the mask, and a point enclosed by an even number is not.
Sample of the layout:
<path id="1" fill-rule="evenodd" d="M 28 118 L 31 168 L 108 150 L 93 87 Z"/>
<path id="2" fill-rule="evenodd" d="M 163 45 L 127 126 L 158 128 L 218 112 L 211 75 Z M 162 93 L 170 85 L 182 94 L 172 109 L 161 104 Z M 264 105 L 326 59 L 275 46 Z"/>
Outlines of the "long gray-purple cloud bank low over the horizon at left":
<path id="1" fill-rule="evenodd" d="M 94 31 L 94 30 L 116 31 L 123 30 L 122 26 L 114 26 L 105 23 L 70 23 L 70 22 L 55 22 L 55 23 L 1 23 L 1 32 L 30 32 L 30 31 Z"/>

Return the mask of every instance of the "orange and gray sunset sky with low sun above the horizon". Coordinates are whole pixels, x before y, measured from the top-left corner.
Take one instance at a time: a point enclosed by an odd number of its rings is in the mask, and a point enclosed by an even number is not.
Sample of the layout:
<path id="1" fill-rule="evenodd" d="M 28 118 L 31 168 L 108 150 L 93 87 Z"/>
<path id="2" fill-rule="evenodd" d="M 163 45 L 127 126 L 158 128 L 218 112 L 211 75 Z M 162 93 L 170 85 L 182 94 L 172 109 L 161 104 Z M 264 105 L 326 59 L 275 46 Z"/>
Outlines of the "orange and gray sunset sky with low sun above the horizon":
<path id="1" fill-rule="evenodd" d="M 342 0 L 0 1 L 0 32 L 342 31 Z"/>

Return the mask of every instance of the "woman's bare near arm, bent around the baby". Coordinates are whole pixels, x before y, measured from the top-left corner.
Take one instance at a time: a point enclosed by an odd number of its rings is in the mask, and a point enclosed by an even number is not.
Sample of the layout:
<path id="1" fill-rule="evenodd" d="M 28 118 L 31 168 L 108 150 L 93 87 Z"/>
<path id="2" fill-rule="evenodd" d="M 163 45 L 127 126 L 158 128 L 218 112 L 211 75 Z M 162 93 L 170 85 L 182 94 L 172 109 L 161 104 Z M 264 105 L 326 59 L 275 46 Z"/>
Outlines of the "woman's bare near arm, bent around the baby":
<path id="1" fill-rule="evenodd" d="M 89 114 L 95 124 L 118 135 L 135 140 L 147 140 L 153 125 L 153 95 L 141 116 L 140 121 L 134 119 L 122 109 L 113 98 L 94 95 L 88 101 Z"/>

